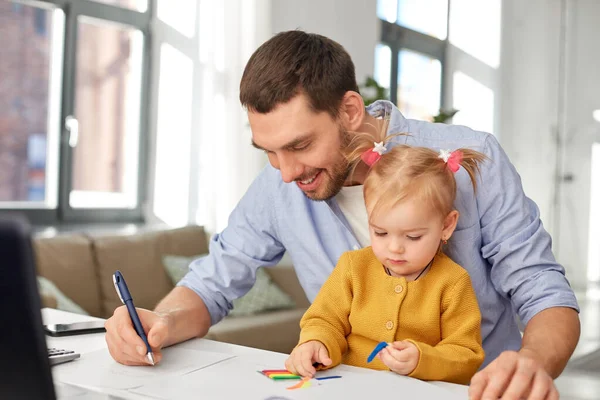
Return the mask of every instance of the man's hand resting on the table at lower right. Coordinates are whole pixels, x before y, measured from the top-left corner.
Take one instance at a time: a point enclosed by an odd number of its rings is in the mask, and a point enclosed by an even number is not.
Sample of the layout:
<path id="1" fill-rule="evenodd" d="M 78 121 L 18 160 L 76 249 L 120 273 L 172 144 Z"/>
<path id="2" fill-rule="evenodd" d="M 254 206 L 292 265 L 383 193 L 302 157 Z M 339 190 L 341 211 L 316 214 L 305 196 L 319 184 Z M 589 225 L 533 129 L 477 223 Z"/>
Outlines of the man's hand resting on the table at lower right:
<path id="1" fill-rule="evenodd" d="M 522 349 L 505 351 L 479 371 L 469 387 L 469 400 L 555 400 L 558 391 L 536 355 Z"/>

